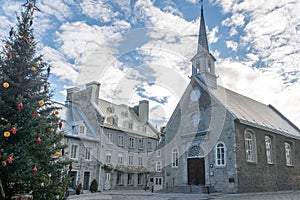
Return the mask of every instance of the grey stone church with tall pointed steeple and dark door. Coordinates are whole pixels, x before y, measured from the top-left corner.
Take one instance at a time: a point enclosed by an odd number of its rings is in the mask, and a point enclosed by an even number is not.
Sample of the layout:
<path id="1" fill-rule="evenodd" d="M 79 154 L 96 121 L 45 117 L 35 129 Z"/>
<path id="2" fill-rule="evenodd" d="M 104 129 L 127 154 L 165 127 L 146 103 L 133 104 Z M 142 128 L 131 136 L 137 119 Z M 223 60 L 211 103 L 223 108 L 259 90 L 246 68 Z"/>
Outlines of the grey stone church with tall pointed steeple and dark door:
<path id="1" fill-rule="evenodd" d="M 203 6 L 190 82 L 164 128 L 163 190 L 300 189 L 300 130 L 274 106 L 218 85 Z"/>

